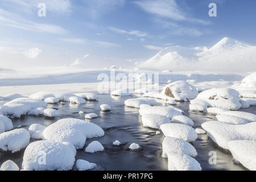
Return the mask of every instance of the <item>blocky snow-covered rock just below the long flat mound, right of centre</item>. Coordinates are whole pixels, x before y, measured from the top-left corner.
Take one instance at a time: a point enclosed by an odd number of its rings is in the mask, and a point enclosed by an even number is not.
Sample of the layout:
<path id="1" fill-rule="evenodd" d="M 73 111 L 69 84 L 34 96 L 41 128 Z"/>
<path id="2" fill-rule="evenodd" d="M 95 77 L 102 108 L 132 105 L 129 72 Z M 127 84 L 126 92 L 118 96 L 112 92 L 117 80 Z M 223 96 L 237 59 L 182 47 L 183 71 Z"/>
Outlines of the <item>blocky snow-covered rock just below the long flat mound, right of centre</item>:
<path id="1" fill-rule="evenodd" d="M 142 125 L 153 129 L 160 129 L 160 125 L 171 123 L 170 119 L 159 114 L 143 114 Z"/>

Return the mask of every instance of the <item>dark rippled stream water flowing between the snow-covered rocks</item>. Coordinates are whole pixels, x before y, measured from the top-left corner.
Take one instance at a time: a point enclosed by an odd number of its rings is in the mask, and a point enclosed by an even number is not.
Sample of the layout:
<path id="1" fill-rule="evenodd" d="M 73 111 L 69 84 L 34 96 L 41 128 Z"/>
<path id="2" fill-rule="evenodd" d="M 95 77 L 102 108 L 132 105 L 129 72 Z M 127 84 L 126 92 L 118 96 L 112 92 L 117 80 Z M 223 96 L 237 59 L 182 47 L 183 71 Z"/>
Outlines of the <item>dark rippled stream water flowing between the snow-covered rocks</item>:
<path id="1" fill-rule="evenodd" d="M 138 109 L 123 105 L 126 99 L 133 97 L 136 96 L 113 97 L 110 95 L 99 95 L 98 101 L 88 101 L 86 104 L 75 105 L 67 102 L 66 105 L 52 105 L 59 107 L 59 117 L 51 119 L 43 116 L 35 117 L 26 115 L 20 119 L 13 119 L 13 124 L 15 128 L 23 127 L 28 129 L 32 123 L 49 126 L 61 118 L 84 119 L 84 114 L 79 114 L 81 110 L 85 114 L 96 113 L 99 117 L 92 119 L 91 122 L 102 127 L 105 131 L 105 136 L 86 140 L 85 147 L 93 140 L 98 140 L 105 147 L 105 151 L 88 154 L 84 152 L 84 149 L 77 150 L 76 160 L 85 159 L 89 162 L 96 163 L 98 167 L 94 170 L 167 170 L 167 159 L 161 157 L 163 134 L 155 135 L 156 130 L 143 127 Z M 165 102 L 163 100 L 157 101 L 159 105 Z M 101 104 L 109 104 L 112 107 L 112 111 L 110 113 L 102 113 L 100 111 Z M 204 122 L 215 120 L 214 115 L 189 111 L 188 105 L 188 102 L 178 102 L 176 107 L 184 110 L 184 115 L 193 119 L 195 128 L 200 127 Z M 256 107 L 242 109 L 242 111 L 256 114 Z M 115 140 L 119 140 L 122 146 L 112 146 Z M 138 143 L 142 147 L 142 150 L 127 150 L 129 145 L 134 142 Z M 207 137 L 207 134 L 199 135 L 193 146 L 198 153 L 195 159 L 201 164 L 203 170 L 246 170 L 240 164 L 234 164 L 230 152 L 218 147 Z M 216 165 L 210 165 L 208 162 L 210 151 L 216 151 Z M 24 150 L 15 154 L 0 152 L 0 163 L 2 164 L 10 159 L 21 168 L 23 153 Z M 76 170 L 75 166 L 73 170 Z"/>

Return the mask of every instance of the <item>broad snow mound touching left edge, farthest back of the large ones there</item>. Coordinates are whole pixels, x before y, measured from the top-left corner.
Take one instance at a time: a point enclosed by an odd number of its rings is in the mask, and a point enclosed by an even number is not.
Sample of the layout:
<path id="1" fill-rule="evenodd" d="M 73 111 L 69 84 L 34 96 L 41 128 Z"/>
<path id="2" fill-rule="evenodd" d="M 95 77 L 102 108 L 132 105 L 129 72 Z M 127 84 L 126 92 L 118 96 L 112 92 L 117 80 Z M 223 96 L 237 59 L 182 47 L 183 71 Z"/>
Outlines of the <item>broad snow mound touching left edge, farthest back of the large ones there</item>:
<path id="1" fill-rule="evenodd" d="M 31 110 L 46 106 L 47 103 L 41 100 L 35 100 L 33 98 L 16 98 L 3 105 L 0 108 L 0 114 L 13 115 L 15 118 L 20 118 L 21 115 L 26 115 Z"/>

